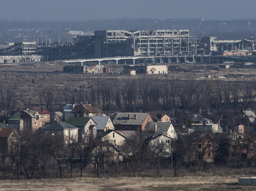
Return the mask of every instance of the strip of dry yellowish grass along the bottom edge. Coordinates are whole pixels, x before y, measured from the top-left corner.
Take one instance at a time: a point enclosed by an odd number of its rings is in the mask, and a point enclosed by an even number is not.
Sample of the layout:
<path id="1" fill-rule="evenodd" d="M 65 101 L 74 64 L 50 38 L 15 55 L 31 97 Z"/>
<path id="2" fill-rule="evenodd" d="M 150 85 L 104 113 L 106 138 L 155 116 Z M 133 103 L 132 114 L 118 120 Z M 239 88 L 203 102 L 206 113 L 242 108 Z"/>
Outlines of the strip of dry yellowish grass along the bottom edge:
<path id="1" fill-rule="evenodd" d="M 1 180 L 0 191 L 83 191 L 83 190 L 256 190 L 256 186 L 238 185 L 238 176 L 185 176 L 182 178 L 67 178 Z"/>

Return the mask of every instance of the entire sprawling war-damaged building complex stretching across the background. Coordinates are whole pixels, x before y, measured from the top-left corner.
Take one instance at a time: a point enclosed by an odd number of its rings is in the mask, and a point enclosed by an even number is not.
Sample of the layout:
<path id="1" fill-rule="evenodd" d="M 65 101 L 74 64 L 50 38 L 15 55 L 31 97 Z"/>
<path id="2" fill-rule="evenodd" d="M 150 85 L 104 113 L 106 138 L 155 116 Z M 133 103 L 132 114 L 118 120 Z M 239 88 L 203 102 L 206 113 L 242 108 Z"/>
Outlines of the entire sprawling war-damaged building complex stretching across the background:
<path id="1" fill-rule="evenodd" d="M 154 60 L 150 64 L 154 64 L 156 59 L 160 59 L 160 63 L 166 60 L 168 63 L 218 63 L 229 61 L 226 58 L 230 56 L 250 56 L 247 62 L 254 62 L 255 37 L 243 40 L 204 37 L 198 41 L 196 36 L 189 34 L 189 30 L 95 30 L 93 33 L 67 32 L 66 42 L 37 38 L 33 42 L 0 45 L 0 64 L 107 57 L 132 57 L 132 63 L 135 63 L 135 57 L 149 57 L 149 60 Z M 243 62 L 245 59 L 236 60 Z M 120 62 L 127 64 L 126 61 Z"/>

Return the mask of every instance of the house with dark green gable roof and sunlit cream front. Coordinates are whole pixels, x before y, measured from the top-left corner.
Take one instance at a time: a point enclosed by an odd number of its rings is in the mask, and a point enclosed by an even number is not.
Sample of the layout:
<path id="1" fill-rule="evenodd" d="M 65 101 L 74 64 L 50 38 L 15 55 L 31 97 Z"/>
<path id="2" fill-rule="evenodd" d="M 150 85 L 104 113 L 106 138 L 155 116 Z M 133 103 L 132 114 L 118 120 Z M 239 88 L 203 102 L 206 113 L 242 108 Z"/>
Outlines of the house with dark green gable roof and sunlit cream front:
<path id="1" fill-rule="evenodd" d="M 97 135 L 97 124 L 91 117 L 69 117 L 67 123 L 79 127 L 78 140 L 88 142 Z"/>

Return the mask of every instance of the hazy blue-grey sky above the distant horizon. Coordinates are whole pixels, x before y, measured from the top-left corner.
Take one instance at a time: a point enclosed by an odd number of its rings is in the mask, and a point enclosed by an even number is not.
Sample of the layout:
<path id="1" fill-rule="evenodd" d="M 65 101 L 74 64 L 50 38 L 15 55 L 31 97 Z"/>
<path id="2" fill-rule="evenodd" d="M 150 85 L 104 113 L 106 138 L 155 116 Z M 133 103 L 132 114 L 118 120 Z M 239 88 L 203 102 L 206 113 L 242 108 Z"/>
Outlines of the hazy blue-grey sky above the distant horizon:
<path id="1" fill-rule="evenodd" d="M 256 0 L 0 0 L 0 18 L 256 18 Z"/>

